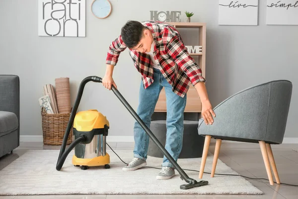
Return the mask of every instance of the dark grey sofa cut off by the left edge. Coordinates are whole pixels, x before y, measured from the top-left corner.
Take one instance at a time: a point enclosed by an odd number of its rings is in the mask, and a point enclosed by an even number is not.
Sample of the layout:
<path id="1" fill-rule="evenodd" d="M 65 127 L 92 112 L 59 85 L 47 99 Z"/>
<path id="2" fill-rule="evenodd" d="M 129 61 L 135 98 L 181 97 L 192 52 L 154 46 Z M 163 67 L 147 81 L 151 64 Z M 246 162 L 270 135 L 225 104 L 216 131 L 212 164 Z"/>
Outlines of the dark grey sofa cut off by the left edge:
<path id="1" fill-rule="evenodd" d="M 20 87 L 16 75 L 0 75 L 0 157 L 19 146 Z"/>

